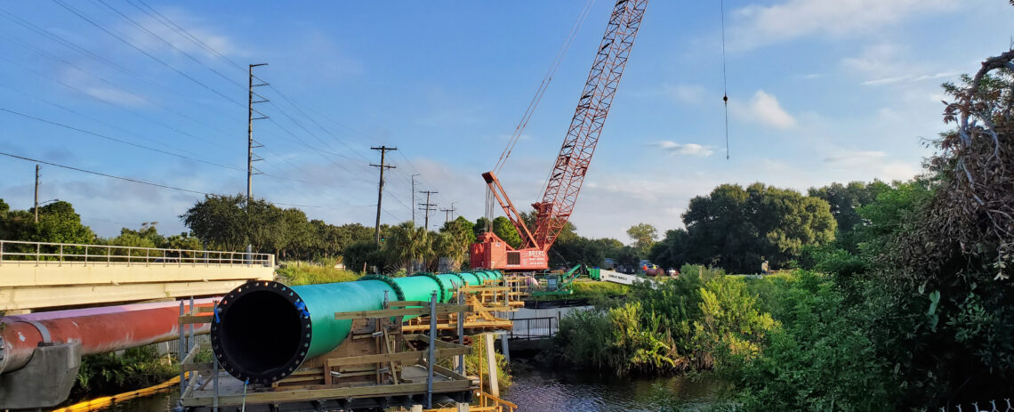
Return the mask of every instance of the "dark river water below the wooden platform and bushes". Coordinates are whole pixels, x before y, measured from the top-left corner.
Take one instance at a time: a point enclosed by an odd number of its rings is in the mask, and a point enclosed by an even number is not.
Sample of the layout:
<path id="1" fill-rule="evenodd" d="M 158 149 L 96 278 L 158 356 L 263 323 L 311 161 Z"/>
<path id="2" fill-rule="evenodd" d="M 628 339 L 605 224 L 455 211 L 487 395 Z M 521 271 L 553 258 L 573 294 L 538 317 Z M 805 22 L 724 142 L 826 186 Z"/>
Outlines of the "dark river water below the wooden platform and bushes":
<path id="1" fill-rule="evenodd" d="M 704 409 L 715 398 L 718 383 L 683 376 L 661 379 L 615 377 L 575 370 L 535 370 L 518 367 L 514 384 L 502 395 L 520 412 L 659 410 L 658 391 L 668 391 L 686 410 Z M 168 412 L 179 398 L 177 391 L 117 404 L 111 412 Z"/>

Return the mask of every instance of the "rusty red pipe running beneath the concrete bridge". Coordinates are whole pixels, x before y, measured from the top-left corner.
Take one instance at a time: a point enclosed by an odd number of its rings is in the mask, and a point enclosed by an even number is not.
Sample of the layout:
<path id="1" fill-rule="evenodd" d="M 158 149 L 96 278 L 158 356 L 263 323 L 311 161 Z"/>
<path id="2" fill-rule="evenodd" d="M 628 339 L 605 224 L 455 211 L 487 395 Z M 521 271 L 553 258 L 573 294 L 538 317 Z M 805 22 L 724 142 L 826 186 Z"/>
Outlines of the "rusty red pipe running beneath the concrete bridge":
<path id="1" fill-rule="evenodd" d="M 196 299 L 195 307 L 212 306 L 220 298 Z M 190 304 L 185 302 L 185 311 Z M 0 373 L 24 366 L 40 343 L 80 342 L 82 355 L 170 341 L 179 338 L 179 301 L 44 312 L 0 318 Z M 209 324 L 195 324 L 195 334 Z M 46 334 L 49 339 L 46 339 Z"/>

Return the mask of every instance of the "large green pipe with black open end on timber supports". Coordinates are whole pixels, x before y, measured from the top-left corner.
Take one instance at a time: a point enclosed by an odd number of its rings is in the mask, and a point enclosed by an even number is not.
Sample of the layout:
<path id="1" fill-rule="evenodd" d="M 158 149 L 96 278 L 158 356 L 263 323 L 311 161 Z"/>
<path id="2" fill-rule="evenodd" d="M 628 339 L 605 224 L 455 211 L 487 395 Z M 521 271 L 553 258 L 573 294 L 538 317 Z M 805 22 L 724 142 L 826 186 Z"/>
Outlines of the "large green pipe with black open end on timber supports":
<path id="1" fill-rule="evenodd" d="M 211 326 L 212 351 L 233 376 L 270 384 L 345 341 L 352 320 L 336 320 L 336 313 L 380 310 L 384 299 L 428 301 L 434 292 L 439 301 L 448 302 L 461 285 L 502 278 L 500 272 L 490 271 L 402 278 L 369 275 L 355 282 L 291 287 L 248 282 L 219 303 Z"/>

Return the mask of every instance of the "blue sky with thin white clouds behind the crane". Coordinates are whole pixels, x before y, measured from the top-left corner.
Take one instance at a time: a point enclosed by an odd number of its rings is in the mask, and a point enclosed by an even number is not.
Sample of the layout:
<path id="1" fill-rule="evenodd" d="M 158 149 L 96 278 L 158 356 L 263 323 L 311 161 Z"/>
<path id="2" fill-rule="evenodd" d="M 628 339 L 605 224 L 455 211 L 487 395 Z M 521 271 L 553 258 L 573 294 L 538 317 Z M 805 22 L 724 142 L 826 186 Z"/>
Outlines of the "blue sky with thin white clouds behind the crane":
<path id="1" fill-rule="evenodd" d="M 439 192 L 433 203 L 474 219 L 480 174 L 585 1 L 291 4 L 0 2 L 0 151 L 244 193 L 245 70 L 269 63 L 256 69 L 273 86 L 260 89 L 272 104 L 259 107 L 271 119 L 255 124 L 268 174 L 255 178 L 256 196 L 372 224 L 369 147 L 386 144 L 400 150 L 388 154 L 397 168 L 384 222 L 412 217 L 414 174 L 418 190 Z M 516 204 L 540 195 L 611 6 L 592 3 L 500 174 Z M 944 130 L 939 84 L 974 72 L 1014 35 L 1014 7 L 1001 0 L 729 0 L 725 11 L 730 158 L 719 3 L 655 0 L 572 217 L 580 233 L 627 242 L 638 222 L 679 227 L 687 201 L 723 183 L 805 190 L 911 178 L 930 153 L 922 139 Z M 30 207 L 33 167 L 0 157 L 0 198 Z M 201 197 L 55 166 L 42 174 L 40 200 L 72 202 L 101 235 L 146 221 L 183 231 L 177 216 Z"/>

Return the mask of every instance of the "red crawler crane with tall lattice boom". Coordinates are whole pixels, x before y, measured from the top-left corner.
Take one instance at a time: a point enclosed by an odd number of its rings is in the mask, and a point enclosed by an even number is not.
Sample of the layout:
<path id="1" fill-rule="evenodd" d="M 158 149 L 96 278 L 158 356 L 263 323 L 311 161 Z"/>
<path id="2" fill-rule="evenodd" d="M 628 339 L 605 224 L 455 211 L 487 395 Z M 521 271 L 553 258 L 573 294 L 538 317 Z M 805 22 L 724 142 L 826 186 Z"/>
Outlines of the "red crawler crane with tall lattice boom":
<path id="1" fill-rule="evenodd" d="M 483 174 L 489 191 L 517 228 L 523 243 L 514 249 L 487 230 L 469 249 L 473 268 L 514 271 L 549 268 L 549 250 L 574 211 L 647 5 L 648 0 L 618 0 L 613 6 L 546 192 L 541 200 L 531 204 L 535 211 L 533 227 L 529 228 L 521 218 L 497 176 L 493 171 Z"/>

